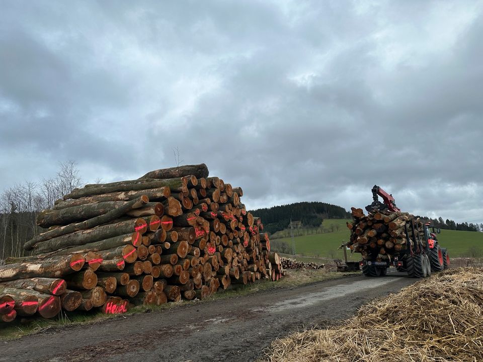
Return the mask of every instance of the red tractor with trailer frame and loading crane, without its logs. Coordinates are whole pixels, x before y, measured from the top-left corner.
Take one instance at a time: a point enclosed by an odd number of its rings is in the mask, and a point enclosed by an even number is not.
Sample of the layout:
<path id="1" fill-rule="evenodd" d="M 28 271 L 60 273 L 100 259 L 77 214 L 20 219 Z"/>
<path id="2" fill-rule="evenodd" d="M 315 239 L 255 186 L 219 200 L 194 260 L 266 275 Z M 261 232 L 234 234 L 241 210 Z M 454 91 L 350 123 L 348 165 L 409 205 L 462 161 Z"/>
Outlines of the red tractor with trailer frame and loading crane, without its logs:
<path id="1" fill-rule="evenodd" d="M 373 202 L 366 206 L 369 213 L 399 213 L 394 198 L 380 187 L 372 188 Z M 380 196 L 383 200 L 378 200 Z M 362 273 L 367 277 L 385 276 L 387 268 L 395 266 L 398 272 L 406 272 L 409 277 L 426 278 L 431 272 L 439 272 L 449 267 L 449 253 L 446 248 L 440 246 L 436 234 L 440 229 L 430 226 L 429 223 L 422 225 L 412 218 L 404 224 L 403 238 L 406 239 L 405 248 L 395 252 L 386 260 L 378 260 L 377 252 L 371 253 L 360 261 Z"/>

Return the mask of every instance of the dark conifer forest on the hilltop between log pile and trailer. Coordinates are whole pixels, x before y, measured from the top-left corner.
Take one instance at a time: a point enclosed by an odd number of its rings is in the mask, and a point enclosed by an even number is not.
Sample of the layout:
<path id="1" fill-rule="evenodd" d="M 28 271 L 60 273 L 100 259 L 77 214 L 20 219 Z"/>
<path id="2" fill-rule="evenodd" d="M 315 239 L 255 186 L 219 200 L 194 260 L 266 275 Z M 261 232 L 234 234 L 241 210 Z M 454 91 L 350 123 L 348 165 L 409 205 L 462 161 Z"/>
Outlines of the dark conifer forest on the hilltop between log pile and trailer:
<path id="1" fill-rule="evenodd" d="M 250 211 L 263 220 L 264 230 L 273 234 L 285 229 L 292 221 L 303 226 L 318 227 L 324 219 L 349 219 L 351 214 L 344 208 L 322 202 L 301 202 Z"/>

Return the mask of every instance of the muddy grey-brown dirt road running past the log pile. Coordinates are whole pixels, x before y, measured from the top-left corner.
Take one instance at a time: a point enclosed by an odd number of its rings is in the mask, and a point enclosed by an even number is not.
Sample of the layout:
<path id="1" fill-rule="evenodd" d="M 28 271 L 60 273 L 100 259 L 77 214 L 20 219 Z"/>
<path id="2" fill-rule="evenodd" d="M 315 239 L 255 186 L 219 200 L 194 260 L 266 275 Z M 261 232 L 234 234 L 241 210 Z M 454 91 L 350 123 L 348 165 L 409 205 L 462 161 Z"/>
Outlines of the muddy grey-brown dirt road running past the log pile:
<path id="1" fill-rule="evenodd" d="M 0 361 L 253 361 L 278 336 L 345 318 L 414 282 L 357 276 L 61 328 L 0 342 Z"/>

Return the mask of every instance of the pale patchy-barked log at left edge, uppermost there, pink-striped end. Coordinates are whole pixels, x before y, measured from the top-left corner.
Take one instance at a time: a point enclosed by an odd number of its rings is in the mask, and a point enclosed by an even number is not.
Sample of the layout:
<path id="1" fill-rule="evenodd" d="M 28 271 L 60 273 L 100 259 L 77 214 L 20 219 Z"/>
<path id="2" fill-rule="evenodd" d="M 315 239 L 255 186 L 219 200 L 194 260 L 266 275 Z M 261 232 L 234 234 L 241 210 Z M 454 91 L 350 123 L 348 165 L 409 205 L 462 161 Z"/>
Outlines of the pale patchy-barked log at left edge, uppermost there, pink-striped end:
<path id="1" fill-rule="evenodd" d="M 26 278 L 58 278 L 80 270 L 84 265 L 81 254 L 62 255 L 37 262 L 21 262 L 0 266 L 0 282 Z"/>

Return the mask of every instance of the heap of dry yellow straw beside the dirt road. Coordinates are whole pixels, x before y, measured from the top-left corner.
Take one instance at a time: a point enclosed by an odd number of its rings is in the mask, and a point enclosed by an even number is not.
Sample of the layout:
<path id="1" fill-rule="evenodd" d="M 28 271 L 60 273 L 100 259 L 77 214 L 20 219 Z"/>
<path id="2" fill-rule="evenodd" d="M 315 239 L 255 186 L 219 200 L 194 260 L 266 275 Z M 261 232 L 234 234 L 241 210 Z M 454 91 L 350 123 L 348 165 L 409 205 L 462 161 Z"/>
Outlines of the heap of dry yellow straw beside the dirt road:
<path id="1" fill-rule="evenodd" d="M 459 268 L 364 305 L 333 329 L 275 340 L 266 361 L 483 360 L 483 269 Z"/>

